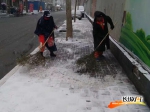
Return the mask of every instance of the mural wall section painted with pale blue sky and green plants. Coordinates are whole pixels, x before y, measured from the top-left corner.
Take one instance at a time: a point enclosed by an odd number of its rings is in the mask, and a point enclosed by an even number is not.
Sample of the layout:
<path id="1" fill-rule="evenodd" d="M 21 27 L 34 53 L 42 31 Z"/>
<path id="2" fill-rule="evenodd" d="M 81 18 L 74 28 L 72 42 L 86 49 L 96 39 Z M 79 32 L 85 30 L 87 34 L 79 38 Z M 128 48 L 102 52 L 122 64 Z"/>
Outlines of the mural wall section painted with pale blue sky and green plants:
<path id="1" fill-rule="evenodd" d="M 119 42 L 150 67 L 150 0 L 126 0 Z"/>

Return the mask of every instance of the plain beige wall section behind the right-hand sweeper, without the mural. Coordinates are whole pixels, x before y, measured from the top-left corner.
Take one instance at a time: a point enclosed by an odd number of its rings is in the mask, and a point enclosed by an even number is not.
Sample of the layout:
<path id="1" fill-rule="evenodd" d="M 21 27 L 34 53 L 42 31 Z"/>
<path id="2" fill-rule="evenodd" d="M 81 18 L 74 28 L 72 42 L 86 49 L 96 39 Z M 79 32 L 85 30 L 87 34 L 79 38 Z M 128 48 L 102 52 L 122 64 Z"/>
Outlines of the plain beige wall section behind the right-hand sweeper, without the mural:
<path id="1" fill-rule="evenodd" d="M 88 0 L 85 3 L 85 10 L 87 14 L 89 14 L 92 17 L 93 10 L 102 11 L 112 18 L 114 24 L 117 22 L 115 29 L 110 34 L 115 40 L 118 41 L 120 38 L 125 1 L 126 0 Z M 93 8 L 92 6 L 95 7 Z"/>

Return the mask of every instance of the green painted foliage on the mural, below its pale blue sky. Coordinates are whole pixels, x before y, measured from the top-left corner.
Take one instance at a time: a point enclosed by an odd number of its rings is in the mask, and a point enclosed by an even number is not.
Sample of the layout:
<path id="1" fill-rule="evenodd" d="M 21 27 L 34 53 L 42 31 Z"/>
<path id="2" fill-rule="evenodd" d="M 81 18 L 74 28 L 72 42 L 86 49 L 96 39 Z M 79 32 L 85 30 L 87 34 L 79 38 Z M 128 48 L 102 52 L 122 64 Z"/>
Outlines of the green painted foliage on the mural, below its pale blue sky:
<path id="1" fill-rule="evenodd" d="M 145 35 L 142 28 L 136 32 L 133 31 L 132 17 L 128 12 L 119 41 L 150 67 L 150 35 Z"/>

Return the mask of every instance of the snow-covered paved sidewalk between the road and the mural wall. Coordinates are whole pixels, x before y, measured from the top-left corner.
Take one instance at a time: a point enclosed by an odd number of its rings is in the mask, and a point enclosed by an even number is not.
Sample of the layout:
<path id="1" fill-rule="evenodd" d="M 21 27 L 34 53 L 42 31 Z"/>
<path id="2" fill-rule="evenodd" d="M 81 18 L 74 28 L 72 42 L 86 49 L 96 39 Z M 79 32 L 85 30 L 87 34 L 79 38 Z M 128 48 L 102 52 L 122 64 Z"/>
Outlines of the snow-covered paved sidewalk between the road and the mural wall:
<path id="1" fill-rule="evenodd" d="M 65 23 L 59 30 L 65 30 Z M 78 74 L 75 60 L 93 51 L 92 26 L 86 19 L 73 23 L 74 38 L 55 31 L 57 58 L 44 52 L 45 66 L 19 69 L 0 85 L 1 112 L 150 112 L 147 106 L 124 105 L 109 109 L 124 95 L 139 95 L 109 50 L 100 62 L 101 74 Z M 4 80 L 0 80 L 3 82 Z"/>

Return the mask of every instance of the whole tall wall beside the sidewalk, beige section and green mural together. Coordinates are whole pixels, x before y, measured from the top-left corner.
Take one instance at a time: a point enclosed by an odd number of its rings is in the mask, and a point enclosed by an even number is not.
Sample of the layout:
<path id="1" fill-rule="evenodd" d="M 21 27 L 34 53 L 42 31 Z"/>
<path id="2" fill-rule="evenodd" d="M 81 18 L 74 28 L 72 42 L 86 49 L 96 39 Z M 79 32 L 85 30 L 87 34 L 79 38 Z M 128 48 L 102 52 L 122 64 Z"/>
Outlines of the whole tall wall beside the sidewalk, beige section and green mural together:
<path id="1" fill-rule="evenodd" d="M 149 6 L 150 0 L 87 0 L 85 11 L 91 17 L 95 10 L 110 16 L 115 24 L 111 37 L 150 67 Z"/>

